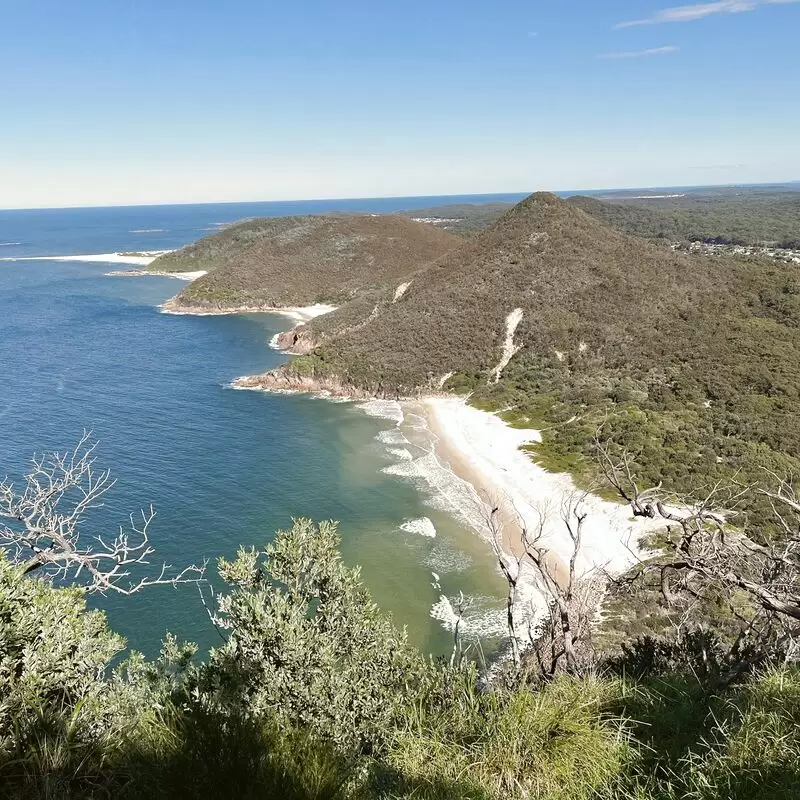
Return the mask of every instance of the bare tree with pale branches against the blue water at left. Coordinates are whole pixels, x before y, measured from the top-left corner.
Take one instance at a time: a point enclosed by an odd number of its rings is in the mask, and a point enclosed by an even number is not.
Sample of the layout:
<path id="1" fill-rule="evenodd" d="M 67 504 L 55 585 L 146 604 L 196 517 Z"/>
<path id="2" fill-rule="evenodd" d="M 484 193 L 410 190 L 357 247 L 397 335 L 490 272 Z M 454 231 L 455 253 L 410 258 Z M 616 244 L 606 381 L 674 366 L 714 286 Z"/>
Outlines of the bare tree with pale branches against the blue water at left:
<path id="1" fill-rule="evenodd" d="M 147 586 L 197 583 L 205 563 L 171 572 L 162 564 L 155 575 L 137 577 L 150 564 L 154 549 L 149 528 L 152 506 L 141 518 L 130 518 L 114 538 L 85 536 L 87 512 L 103 505 L 114 486 L 108 470 L 95 466 L 96 443 L 84 433 L 68 453 L 34 456 L 22 485 L 0 483 L 0 548 L 26 573 L 83 585 L 88 592 L 133 594 Z"/>

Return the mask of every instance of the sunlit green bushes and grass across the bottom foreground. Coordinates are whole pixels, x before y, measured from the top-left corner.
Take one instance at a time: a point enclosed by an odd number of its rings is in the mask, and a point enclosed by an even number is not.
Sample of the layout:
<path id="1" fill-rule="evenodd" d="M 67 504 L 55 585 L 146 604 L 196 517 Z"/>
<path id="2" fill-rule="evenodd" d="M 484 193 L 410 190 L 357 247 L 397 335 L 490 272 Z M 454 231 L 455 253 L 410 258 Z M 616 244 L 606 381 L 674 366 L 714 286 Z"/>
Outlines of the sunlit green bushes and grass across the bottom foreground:
<path id="1" fill-rule="evenodd" d="M 0 796 L 797 796 L 797 668 L 722 684 L 692 669 L 692 640 L 490 680 L 414 650 L 338 544 L 335 525 L 297 520 L 220 562 L 224 644 L 197 660 L 168 639 L 117 666 L 122 641 L 82 590 L 0 559 Z"/>

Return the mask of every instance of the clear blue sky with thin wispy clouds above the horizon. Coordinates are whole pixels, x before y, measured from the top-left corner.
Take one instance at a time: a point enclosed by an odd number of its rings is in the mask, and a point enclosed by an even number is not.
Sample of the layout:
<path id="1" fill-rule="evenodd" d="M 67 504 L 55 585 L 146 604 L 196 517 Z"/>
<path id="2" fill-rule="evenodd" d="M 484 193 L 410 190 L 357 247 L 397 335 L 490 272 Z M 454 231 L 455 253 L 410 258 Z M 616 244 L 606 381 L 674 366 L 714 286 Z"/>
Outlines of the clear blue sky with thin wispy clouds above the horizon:
<path id="1" fill-rule="evenodd" d="M 798 0 L 0 0 L 0 207 L 800 179 Z"/>

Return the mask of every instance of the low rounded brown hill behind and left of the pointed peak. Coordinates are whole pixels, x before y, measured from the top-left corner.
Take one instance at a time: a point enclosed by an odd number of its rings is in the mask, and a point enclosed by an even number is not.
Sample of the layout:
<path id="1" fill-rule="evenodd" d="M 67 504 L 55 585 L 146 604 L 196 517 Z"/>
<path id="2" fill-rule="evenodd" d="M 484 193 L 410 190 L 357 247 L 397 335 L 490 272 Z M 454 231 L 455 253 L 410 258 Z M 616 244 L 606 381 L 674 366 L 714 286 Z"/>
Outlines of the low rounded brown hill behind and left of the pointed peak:
<path id="1" fill-rule="evenodd" d="M 394 284 L 460 244 L 433 226 L 386 215 L 249 220 L 156 259 L 153 270 L 208 274 L 184 306 L 305 306 L 345 302 Z"/>

